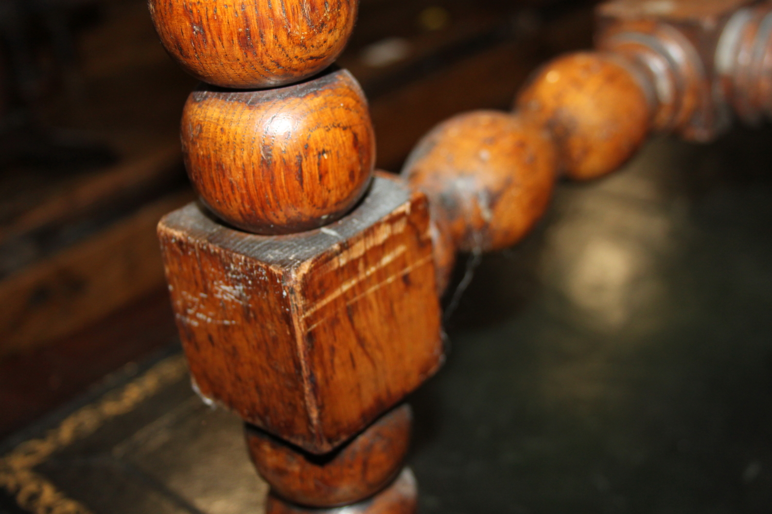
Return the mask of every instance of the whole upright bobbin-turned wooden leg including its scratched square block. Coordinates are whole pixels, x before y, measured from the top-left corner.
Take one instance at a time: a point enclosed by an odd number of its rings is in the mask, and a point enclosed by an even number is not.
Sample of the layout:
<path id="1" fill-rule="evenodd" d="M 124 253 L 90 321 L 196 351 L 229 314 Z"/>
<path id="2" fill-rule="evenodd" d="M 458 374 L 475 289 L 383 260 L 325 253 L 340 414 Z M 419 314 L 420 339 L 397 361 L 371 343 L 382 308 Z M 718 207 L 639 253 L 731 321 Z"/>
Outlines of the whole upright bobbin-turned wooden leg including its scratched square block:
<path id="1" fill-rule="evenodd" d="M 415 512 L 394 405 L 442 364 L 438 231 L 422 193 L 373 178 L 367 101 L 325 69 L 357 2 L 149 4 L 208 82 L 181 129 L 201 204 L 158 227 L 195 388 L 247 422 L 268 512 Z"/>

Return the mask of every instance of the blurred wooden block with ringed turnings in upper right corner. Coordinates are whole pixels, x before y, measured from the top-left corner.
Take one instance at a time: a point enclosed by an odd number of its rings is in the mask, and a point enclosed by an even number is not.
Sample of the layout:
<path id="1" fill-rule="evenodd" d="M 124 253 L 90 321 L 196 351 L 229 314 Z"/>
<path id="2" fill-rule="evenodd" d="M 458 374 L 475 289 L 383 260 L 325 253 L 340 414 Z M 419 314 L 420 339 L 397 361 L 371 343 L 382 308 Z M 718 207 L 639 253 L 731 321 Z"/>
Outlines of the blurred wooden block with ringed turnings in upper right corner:
<path id="1" fill-rule="evenodd" d="M 642 0 L 598 7 L 597 48 L 645 72 L 656 99 L 653 128 L 709 143 L 736 115 L 757 126 L 772 114 L 770 2 Z"/>

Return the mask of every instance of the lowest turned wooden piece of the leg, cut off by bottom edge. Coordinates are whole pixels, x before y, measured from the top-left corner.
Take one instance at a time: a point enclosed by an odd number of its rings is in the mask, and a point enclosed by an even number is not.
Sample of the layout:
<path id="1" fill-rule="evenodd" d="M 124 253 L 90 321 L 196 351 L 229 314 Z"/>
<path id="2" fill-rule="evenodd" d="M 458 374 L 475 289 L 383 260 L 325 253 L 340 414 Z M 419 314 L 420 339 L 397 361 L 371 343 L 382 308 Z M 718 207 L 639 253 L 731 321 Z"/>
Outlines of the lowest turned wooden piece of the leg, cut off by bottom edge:
<path id="1" fill-rule="evenodd" d="M 334 509 L 312 509 L 286 502 L 269 494 L 266 514 L 415 514 L 418 512 L 418 485 L 410 469 L 403 470 L 388 488 L 371 499 Z"/>

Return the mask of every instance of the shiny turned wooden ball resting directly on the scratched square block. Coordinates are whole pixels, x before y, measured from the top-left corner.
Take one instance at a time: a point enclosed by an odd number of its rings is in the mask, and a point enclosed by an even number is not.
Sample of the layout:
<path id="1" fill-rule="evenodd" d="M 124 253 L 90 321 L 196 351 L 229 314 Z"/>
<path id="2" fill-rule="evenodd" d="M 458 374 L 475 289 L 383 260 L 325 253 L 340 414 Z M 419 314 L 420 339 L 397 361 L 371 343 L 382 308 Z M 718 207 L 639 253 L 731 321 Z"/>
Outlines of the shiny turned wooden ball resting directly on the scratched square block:
<path id="1" fill-rule="evenodd" d="M 375 160 L 367 101 L 346 70 L 262 91 L 202 86 L 185 104 L 182 148 L 206 206 L 269 235 L 342 217 Z"/>

